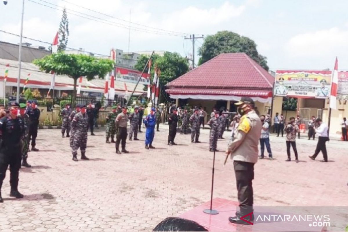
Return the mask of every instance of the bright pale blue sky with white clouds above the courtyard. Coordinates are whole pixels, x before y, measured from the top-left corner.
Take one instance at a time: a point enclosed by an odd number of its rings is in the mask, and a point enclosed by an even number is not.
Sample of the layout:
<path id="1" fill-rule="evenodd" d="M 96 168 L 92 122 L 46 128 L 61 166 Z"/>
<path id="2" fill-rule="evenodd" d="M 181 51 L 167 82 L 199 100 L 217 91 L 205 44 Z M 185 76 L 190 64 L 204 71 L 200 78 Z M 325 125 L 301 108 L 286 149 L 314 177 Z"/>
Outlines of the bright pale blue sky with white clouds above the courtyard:
<path id="1" fill-rule="evenodd" d="M 19 34 L 22 0 L 7 1 L 6 6 L 0 2 L 0 30 Z M 347 0 L 32 1 L 25 0 L 24 36 L 52 42 L 61 20 L 61 7 L 65 6 L 70 29 L 68 47 L 94 53 L 108 55 L 112 48 L 126 52 L 129 45 L 129 51 L 166 50 L 188 56 L 192 41 L 185 40 L 184 34 L 206 36 L 228 30 L 253 39 L 271 70 L 332 69 L 336 56 L 339 69 L 348 70 Z M 76 11 L 84 17 L 103 19 L 104 23 L 73 15 L 79 14 Z M 125 28 L 129 25 L 130 39 Z M 19 42 L 18 37 L 2 32 L 0 40 Z M 42 45 L 28 39 L 24 42 Z M 203 39 L 196 40 L 196 63 L 202 43 Z"/>

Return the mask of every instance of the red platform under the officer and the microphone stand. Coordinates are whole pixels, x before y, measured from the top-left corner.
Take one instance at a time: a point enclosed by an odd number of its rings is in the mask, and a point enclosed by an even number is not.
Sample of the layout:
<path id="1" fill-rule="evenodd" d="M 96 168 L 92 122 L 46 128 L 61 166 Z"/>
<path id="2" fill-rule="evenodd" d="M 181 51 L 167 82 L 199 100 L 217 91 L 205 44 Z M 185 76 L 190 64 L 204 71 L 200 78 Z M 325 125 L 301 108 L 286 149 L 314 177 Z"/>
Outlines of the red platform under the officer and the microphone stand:
<path id="1" fill-rule="evenodd" d="M 254 225 L 236 225 L 228 221 L 228 217 L 235 216 L 238 207 L 238 202 L 230 201 L 222 198 L 213 199 L 213 209 L 219 211 L 219 214 L 210 215 L 203 212 L 204 209 L 209 209 L 210 201 L 203 205 L 187 211 L 179 217 L 189 219 L 199 223 L 212 232 L 224 231 L 326 231 L 323 227 L 309 227 L 306 222 L 267 222 L 256 223 Z M 272 207 L 257 207 L 255 209 L 255 219 L 258 215 L 269 214 L 274 208 Z M 282 215 L 283 212 L 274 212 Z M 254 222 L 255 223 L 255 222 Z"/>

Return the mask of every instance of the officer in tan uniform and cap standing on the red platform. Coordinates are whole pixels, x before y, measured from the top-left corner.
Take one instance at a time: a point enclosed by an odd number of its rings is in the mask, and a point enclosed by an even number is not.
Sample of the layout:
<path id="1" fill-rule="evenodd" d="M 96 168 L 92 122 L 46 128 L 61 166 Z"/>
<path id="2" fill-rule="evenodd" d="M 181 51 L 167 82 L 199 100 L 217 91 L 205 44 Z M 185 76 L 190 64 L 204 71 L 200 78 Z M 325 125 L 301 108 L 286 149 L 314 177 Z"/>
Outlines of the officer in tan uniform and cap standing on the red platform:
<path id="1" fill-rule="evenodd" d="M 261 136 L 262 123 L 254 110 L 254 101 L 249 97 L 235 103 L 238 113 L 242 115 L 235 134 L 235 139 L 229 143 L 226 160 L 231 154 L 235 169 L 239 211 L 235 217 L 229 217 L 231 223 L 247 224 L 243 221 L 253 221 L 253 186 L 254 164 L 258 161 L 258 144 Z M 226 163 L 226 161 L 225 161 Z"/>

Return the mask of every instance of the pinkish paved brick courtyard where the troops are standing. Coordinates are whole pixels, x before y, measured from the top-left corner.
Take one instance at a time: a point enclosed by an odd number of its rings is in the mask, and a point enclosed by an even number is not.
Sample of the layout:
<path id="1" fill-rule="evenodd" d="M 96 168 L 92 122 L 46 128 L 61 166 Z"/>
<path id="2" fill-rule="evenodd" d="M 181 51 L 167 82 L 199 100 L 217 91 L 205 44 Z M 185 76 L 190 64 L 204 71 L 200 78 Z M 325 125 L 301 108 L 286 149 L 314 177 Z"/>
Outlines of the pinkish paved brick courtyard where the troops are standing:
<path id="1" fill-rule="evenodd" d="M 61 138 L 60 130 L 39 130 L 40 151 L 29 153 L 33 167 L 22 168 L 19 176 L 24 199 L 8 197 L 7 173 L 0 231 L 150 231 L 162 219 L 208 201 L 213 158 L 209 131 L 201 130 L 201 144 L 177 134 L 179 145 L 167 146 L 168 126 L 160 130 L 156 150 L 144 149 L 145 133 L 140 133 L 141 141 L 127 141 L 129 154 L 117 155 L 99 129 L 88 136 L 90 161 L 78 162 L 71 160 L 69 138 Z M 285 162 L 285 138 L 271 137 L 275 159 L 259 160 L 255 166 L 255 205 L 348 206 L 348 143 L 330 141 L 330 162 L 321 163 L 308 158 L 316 142 L 298 140 L 300 162 Z M 219 140 L 218 149 L 225 150 L 227 143 Z M 233 165 L 228 161 L 223 166 L 222 151 L 216 153 L 214 197 L 237 200 Z"/>

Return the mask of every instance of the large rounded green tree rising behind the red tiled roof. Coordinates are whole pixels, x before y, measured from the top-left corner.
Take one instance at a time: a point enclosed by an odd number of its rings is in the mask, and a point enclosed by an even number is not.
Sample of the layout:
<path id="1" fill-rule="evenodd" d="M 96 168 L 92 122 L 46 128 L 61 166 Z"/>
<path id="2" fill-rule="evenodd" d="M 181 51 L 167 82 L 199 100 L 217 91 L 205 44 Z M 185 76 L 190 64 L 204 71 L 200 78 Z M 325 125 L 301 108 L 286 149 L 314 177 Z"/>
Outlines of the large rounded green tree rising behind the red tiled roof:
<path id="1" fill-rule="evenodd" d="M 258 53 L 254 40 L 240 36 L 231 31 L 220 31 L 208 35 L 203 45 L 198 49 L 198 65 L 201 65 L 221 53 L 245 53 L 268 71 L 267 58 Z"/>

